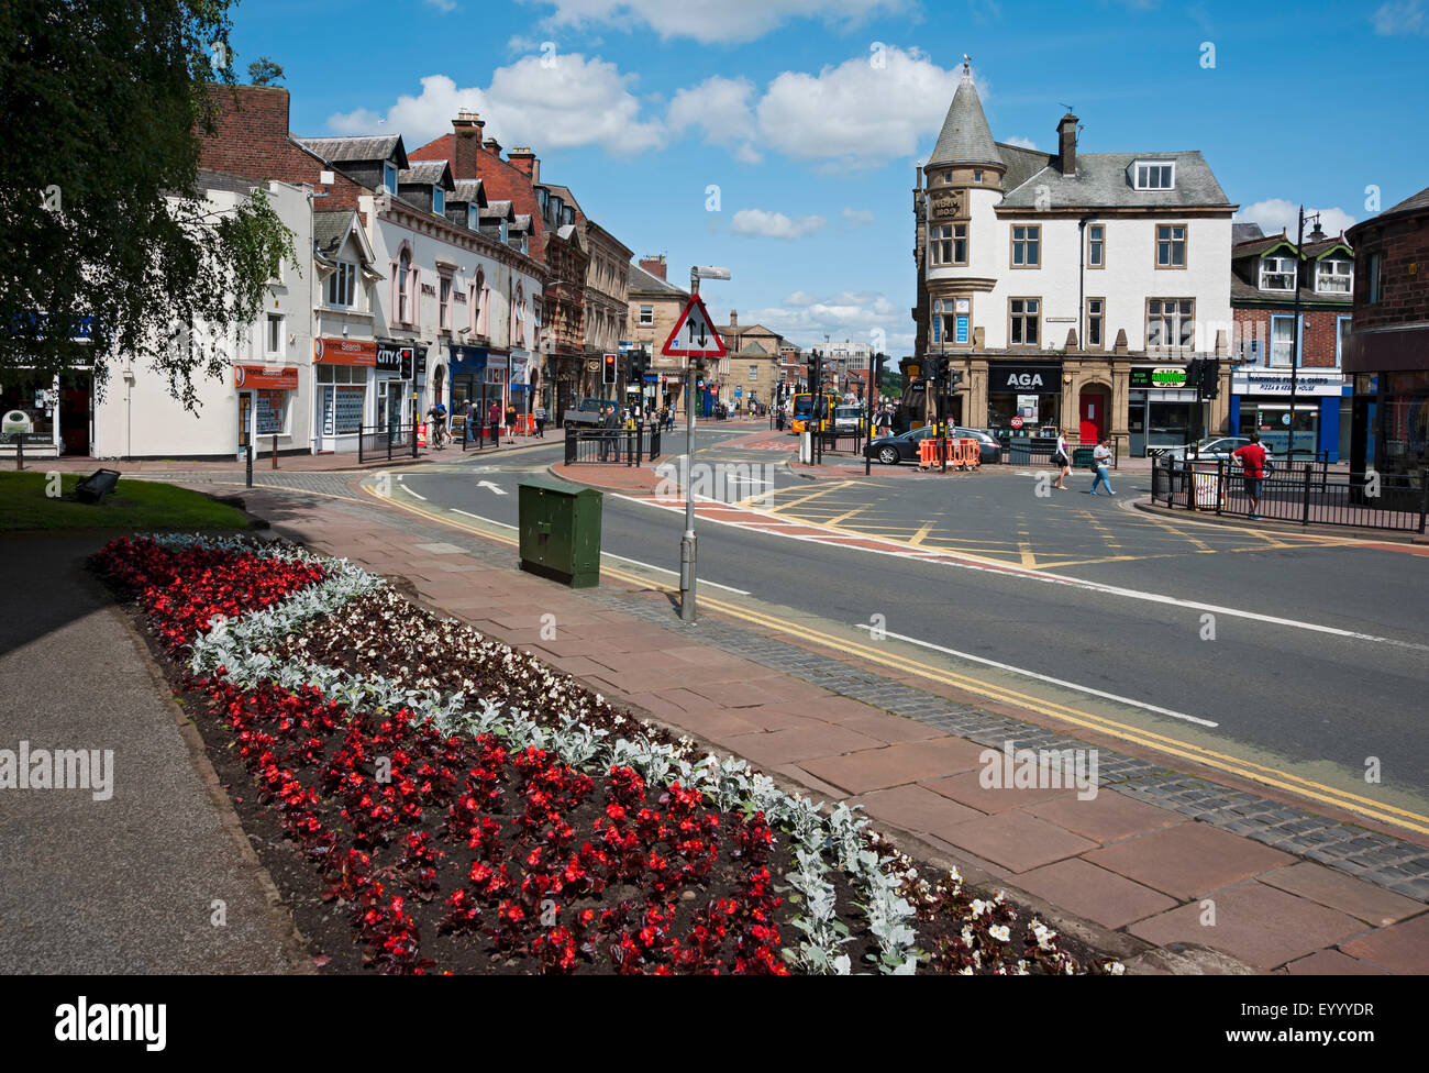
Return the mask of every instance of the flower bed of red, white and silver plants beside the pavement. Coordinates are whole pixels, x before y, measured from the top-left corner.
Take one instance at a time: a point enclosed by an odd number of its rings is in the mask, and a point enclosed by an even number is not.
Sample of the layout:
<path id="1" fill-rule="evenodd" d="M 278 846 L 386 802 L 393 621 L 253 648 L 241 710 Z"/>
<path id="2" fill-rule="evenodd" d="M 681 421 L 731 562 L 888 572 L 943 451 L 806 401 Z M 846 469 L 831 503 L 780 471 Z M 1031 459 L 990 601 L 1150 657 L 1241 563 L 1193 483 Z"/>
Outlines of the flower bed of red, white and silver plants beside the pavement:
<path id="1" fill-rule="evenodd" d="M 156 537 L 96 567 L 256 787 L 234 802 L 330 969 L 1120 970 L 350 563 Z"/>

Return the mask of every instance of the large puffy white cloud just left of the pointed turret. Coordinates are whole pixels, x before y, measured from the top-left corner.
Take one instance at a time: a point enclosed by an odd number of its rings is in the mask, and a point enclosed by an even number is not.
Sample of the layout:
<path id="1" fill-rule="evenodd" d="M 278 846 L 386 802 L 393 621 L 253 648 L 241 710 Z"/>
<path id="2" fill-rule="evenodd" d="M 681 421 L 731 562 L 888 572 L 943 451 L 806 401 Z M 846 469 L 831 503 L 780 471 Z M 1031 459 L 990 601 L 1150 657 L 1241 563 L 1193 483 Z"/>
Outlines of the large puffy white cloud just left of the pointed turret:
<path id="1" fill-rule="evenodd" d="M 817 74 L 776 77 L 756 109 L 762 143 L 850 166 L 912 156 L 942 126 L 959 73 L 902 49 L 883 59 L 882 67 L 860 56 Z"/>

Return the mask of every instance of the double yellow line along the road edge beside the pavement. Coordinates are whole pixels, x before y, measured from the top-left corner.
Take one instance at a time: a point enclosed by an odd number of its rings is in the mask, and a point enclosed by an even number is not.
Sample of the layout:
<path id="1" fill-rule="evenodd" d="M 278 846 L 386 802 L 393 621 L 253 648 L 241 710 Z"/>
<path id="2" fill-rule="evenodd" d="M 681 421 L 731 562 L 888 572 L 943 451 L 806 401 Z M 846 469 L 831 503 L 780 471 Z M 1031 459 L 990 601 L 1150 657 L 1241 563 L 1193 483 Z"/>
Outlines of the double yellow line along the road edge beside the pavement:
<path id="1" fill-rule="evenodd" d="M 504 533 L 490 533 L 477 526 L 469 526 L 462 521 L 454 521 L 436 511 L 424 510 L 422 507 L 413 506 L 410 503 L 403 503 L 390 497 L 376 496 L 369 491 L 366 486 L 363 490 L 367 491 L 373 499 L 377 499 L 387 506 L 394 506 L 399 510 L 406 510 L 407 513 L 417 514 L 420 517 L 440 521 L 443 524 L 460 529 L 469 533 L 474 533 L 490 540 L 497 540 L 503 544 L 516 546 L 519 542 L 514 536 L 507 536 Z M 622 582 L 629 582 L 632 584 L 653 587 L 663 593 L 679 592 L 676 587 L 662 582 L 652 582 L 649 577 L 642 577 L 633 574 L 627 570 L 619 567 L 610 567 L 602 564 L 602 573 Z M 1243 760 L 1240 757 L 1229 756 L 1228 753 L 1220 753 L 1213 749 L 1206 749 L 1205 746 L 1198 746 L 1190 742 L 1182 742 L 1176 737 L 1169 737 L 1166 734 L 1159 734 L 1153 730 L 1146 730 L 1129 723 L 1122 723 L 1106 716 L 1097 716 L 1090 712 L 1083 712 L 1080 709 L 1067 707 L 1066 704 L 1057 704 L 1056 702 L 1046 700 L 1043 697 L 1035 697 L 1027 693 L 1020 693 L 1015 689 L 1006 686 L 995 686 L 992 683 L 983 682 L 980 679 L 973 679 L 966 674 L 957 674 L 942 667 L 935 667 L 927 663 L 920 663 L 917 660 L 907 659 L 905 656 L 890 656 L 879 652 L 867 644 L 856 644 L 846 637 L 836 637 L 820 630 L 810 629 L 807 626 L 800 626 L 783 619 L 765 614 L 762 612 L 753 612 L 747 607 L 740 607 L 737 604 L 727 603 L 720 599 L 712 599 L 709 596 L 700 597 L 700 606 L 719 612 L 720 614 L 727 614 L 732 619 L 739 619 L 747 622 L 753 626 L 759 626 L 765 630 L 773 630 L 790 637 L 800 637 L 815 644 L 820 644 L 835 652 L 842 652 L 845 654 L 853 656 L 856 659 L 867 660 L 869 663 L 876 663 L 883 667 L 890 667 L 893 670 L 902 672 L 905 674 L 916 674 L 929 682 L 937 682 L 945 686 L 952 686 L 955 689 L 966 690 L 980 697 L 989 700 L 997 700 L 1005 704 L 1012 704 L 1015 707 L 1025 709 L 1027 712 L 1036 712 L 1043 716 L 1060 720 L 1063 723 L 1070 723 L 1072 726 L 1079 726 L 1086 730 L 1096 732 L 1099 734 L 1106 734 L 1109 737 L 1129 742 L 1132 744 L 1139 744 L 1146 749 L 1153 749 L 1157 753 L 1165 753 L 1167 756 L 1175 756 L 1190 763 L 1202 764 L 1205 767 L 1212 767 L 1218 772 L 1225 772 L 1226 774 L 1239 776 L 1240 779 L 1248 779 L 1263 786 L 1273 786 L 1286 793 L 1296 794 L 1299 797 L 1308 797 L 1313 802 L 1322 804 L 1329 804 L 1336 809 L 1343 809 L 1352 812 L 1358 816 L 1365 816 L 1380 823 L 1400 827 L 1405 830 L 1412 830 L 1419 834 L 1429 834 L 1429 816 L 1423 816 L 1408 809 L 1399 809 L 1393 804 L 1385 804 L 1369 797 L 1362 797 L 1359 794 L 1349 793 L 1348 790 L 1340 790 L 1333 786 L 1326 786 L 1325 783 L 1318 783 L 1312 779 L 1302 779 L 1298 774 L 1290 774 L 1289 772 L 1282 772 L 1276 767 L 1268 767 L 1265 764 L 1258 764 L 1253 760 Z"/>

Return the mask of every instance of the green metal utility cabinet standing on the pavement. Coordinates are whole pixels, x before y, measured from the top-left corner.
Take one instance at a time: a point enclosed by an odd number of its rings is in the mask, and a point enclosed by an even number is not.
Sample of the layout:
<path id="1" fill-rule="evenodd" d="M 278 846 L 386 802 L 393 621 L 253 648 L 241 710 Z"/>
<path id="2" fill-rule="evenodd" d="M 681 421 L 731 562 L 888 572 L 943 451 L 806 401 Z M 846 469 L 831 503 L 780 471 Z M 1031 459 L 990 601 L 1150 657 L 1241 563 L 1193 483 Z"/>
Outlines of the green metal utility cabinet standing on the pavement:
<path id="1" fill-rule="evenodd" d="M 543 477 L 519 493 L 522 570 L 572 589 L 600 584 L 602 494 Z"/>

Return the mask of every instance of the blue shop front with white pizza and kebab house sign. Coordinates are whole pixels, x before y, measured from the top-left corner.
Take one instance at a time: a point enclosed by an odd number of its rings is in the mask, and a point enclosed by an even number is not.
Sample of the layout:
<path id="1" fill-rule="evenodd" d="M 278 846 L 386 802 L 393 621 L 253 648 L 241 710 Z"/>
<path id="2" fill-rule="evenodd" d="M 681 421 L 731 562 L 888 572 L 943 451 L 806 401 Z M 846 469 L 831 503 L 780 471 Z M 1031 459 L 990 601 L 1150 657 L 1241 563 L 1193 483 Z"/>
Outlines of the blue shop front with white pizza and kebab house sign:
<path id="1" fill-rule="evenodd" d="M 1290 413 L 1290 370 L 1238 369 L 1230 376 L 1230 427 L 1236 436 L 1260 433 L 1260 441 L 1279 459 L 1289 456 L 1340 456 L 1339 371 L 1302 369 L 1295 377 L 1295 413 Z"/>

